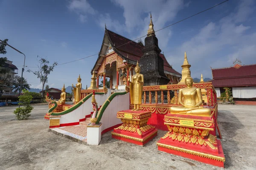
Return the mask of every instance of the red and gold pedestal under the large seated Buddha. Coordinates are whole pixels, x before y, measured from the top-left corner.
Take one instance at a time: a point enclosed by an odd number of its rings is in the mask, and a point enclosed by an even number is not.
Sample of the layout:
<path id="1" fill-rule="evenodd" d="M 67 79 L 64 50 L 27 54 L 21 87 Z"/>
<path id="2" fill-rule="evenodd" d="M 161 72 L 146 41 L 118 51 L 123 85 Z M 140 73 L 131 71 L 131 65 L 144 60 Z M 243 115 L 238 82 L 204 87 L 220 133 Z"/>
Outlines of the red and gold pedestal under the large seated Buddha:
<path id="1" fill-rule="evenodd" d="M 169 132 L 158 142 L 158 150 L 196 161 L 224 167 L 224 153 L 214 131 L 212 117 L 167 114 Z"/>

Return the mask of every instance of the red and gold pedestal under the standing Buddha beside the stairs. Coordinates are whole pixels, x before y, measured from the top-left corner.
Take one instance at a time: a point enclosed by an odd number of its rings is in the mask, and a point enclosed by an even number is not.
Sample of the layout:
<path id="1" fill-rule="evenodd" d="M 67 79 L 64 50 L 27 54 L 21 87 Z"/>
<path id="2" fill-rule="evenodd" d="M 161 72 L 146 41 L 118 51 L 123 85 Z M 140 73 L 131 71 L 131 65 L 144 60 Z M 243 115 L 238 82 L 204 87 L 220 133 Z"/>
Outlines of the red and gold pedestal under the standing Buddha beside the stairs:
<path id="1" fill-rule="evenodd" d="M 151 117 L 149 111 L 119 111 L 117 118 L 121 119 L 123 124 L 114 128 L 112 134 L 113 139 L 122 140 L 138 145 L 145 145 L 154 136 L 157 136 L 157 130 L 151 125 L 147 125 L 148 119 Z"/>

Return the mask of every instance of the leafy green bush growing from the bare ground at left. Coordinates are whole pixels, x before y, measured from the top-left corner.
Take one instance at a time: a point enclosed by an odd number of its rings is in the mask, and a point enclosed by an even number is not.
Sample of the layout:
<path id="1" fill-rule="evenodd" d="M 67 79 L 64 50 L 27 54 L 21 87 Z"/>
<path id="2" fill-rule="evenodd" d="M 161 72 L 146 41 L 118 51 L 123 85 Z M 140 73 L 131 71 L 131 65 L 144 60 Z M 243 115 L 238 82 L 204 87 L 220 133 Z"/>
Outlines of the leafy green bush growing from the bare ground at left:
<path id="1" fill-rule="evenodd" d="M 24 89 L 23 95 L 19 96 L 19 105 L 22 105 L 23 108 L 16 108 L 14 114 L 16 115 L 17 120 L 24 120 L 28 119 L 30 116 L 30 112 L 32 111 L 33 107 L 30 105 L 30 101 L 33 99 L 31 95 L 29 95 L 29 91 Z"/>

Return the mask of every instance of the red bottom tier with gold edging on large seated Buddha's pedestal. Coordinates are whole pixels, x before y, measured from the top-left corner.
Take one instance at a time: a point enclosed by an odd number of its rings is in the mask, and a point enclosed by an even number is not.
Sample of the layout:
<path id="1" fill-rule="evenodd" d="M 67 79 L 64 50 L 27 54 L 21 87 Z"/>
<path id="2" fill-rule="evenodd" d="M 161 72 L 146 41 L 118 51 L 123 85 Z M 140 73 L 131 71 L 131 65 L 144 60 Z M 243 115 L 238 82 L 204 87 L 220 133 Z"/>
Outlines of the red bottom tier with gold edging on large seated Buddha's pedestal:
<path id="1" fill-rule="evenodd" d="M 205 153 L 203 150 L 196 151 L 196 150 L 191 150 L 184 147 L 173 146 L 171 144 L 167 144 L 166 142 L 163 142 L 162 139 L 160 139 L 157 142 L 157 147 L 158 147 L 158 150 L 160 151 L 171 153 L 177 156 L 182 156 L 188 159 L 193 159 L 195 161 L 200 161 L 206 164 L 211 164 L 218 167 L 224 167 L 225 158 L 224 158 L 224 153 L 223 153 L 220 140 L 217 140 L 217 145 L 218 145 L 219 153 L 213 155 L 213 154 Z"/>

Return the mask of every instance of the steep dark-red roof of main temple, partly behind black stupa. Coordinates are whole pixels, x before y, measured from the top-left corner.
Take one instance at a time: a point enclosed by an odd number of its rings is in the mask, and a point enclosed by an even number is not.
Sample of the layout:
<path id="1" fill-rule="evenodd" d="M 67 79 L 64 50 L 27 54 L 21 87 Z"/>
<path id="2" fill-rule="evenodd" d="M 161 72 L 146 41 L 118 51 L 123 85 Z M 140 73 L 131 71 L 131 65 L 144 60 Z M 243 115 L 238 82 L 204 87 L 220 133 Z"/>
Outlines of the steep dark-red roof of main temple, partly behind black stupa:
<path id="1" fill-rule="evenodd" d="M 120 57 L 122 57 L 123 59 L 127 60 L 128 62 L 134 65 L 136 65 L 137 61 L 140 62 L 140 57 L 143 56 L 142 49 L 144 48 L 144 46 L 126 37 L 123 37 L 122 35 L 116 34 L 115 32 L 108 30 L 107 28 L 105 28 L 104 39 L 106 35 L 108 36 L 108 40 L 111 43 L 113 51 L 115 51 Z M 102 46 L 103 44 L 104 44 L 104 40 L 102 42 Z M 172 66 L 169 65 L 169 63 L 167 62 L 163 54 L 160 54 L 160 57 L 163 58 L 165 71 L 181 76 L 179 72 L 175 71 L 175 69 L 173 69 Z M 99 58 L 100 58 L 100 54 L 97 61 L 99 60 Z M 96 67 L 96 64 L 94 68 L 95 67 Z"/>

